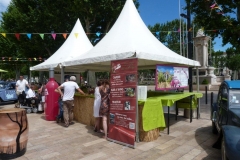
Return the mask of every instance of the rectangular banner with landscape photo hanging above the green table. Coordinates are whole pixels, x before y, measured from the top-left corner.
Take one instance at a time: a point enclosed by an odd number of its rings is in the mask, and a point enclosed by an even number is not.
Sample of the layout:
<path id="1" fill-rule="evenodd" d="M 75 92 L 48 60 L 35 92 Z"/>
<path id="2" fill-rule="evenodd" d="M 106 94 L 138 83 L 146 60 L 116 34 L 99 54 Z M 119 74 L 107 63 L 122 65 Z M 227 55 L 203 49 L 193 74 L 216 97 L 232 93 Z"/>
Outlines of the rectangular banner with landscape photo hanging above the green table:
<path id="1" fill-rule="evenodd" d="M 188 86 L 188 68 L 156 65 L 155 90 L 177 90 Z"/>

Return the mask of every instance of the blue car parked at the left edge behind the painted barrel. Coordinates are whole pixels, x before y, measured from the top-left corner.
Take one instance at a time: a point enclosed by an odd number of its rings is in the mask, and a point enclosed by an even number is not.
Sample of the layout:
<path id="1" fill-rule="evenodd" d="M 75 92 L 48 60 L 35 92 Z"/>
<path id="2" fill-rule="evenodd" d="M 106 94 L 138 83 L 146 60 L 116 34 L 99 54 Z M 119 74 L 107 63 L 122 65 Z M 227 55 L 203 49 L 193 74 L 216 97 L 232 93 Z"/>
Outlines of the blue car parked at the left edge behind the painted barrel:
<path id="1" fill-rule="evenodd" d="M 14 101 L 17 102 L 18 97 L 15 91 L 16 82 L 0 82 L 0 103 Z"/>

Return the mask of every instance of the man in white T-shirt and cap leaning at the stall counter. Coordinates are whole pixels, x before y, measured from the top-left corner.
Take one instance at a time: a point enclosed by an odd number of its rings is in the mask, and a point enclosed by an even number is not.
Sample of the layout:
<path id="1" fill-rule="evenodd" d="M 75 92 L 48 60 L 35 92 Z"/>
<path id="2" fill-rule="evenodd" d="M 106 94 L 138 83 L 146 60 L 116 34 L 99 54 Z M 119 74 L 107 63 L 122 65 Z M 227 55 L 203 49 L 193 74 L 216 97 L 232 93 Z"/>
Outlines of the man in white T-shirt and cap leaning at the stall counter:
<path id="1" fill-rule="evenodd" d="M 85 95 L 85 93 L 79 88 L 76 82 L 76 77 L 71 76 L 70 81 L 64 82 L 58 87 L 58 92 L 61 94 L 63 101 L 63 117 L 65 122 L 65 127 L 68 127 L 69 124 L 72 124 L 73 120 L 73 100 L 75 90 L 79 93 Z M 64 89 L 64 93 L 62 93 L 61 89 Z"/>

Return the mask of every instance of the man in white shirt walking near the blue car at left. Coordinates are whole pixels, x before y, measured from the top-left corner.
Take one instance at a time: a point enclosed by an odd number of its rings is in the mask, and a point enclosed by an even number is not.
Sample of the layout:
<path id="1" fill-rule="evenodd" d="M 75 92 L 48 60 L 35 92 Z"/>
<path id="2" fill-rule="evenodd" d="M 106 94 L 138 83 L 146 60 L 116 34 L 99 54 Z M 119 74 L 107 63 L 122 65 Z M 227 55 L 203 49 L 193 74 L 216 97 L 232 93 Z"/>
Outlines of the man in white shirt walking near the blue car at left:
<path id="1" fill-rule="evenodd" d="M 23 79 L 23 76 L 20 75 L 19 80 L 16 83 L 16 94 L 18 95 L 18 103 L 23 103 L 24 98 L 26 96 L 25 94 L 25 89 L 26 86 L 28 86 L 30 88 L 30 86 L 28 85 L 28 81 L 26 79 Z M 19 105 L 16 104 L 15 107 L 18 107 Z"/>

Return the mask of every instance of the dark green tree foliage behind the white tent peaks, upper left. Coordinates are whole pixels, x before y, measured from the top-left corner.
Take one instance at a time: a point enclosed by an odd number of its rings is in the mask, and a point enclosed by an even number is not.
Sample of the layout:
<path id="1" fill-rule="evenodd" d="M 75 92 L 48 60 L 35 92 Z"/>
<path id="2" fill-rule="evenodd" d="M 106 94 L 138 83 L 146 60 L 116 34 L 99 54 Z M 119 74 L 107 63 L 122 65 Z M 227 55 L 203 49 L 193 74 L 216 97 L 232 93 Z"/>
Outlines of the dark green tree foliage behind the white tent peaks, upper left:
<path id="1" fill-rule="evenodd" d="M 138 0 L 134 3 L 139 6 Z M 12 0 L 2 13 L 0 24 L 2 32 L 12 34 L 7 34 L 7 38 L 0 35 L 0 56 L 48 58 L 65 41 L 60 34 L 53 40 L 50 33 L 70 33 L 77 18 L 96 44 L 112 27 L 124 4 L 125 0 Z M 101 36 L 96 36 L 97 32 Z M 14 33 L 36 34 L 31 39 L 20 34 L 17 40 Z M 45 33 L 44 40 L 39 33 Z M 37 63 L 28 62 L 29 65 Z"/>

